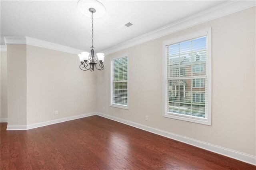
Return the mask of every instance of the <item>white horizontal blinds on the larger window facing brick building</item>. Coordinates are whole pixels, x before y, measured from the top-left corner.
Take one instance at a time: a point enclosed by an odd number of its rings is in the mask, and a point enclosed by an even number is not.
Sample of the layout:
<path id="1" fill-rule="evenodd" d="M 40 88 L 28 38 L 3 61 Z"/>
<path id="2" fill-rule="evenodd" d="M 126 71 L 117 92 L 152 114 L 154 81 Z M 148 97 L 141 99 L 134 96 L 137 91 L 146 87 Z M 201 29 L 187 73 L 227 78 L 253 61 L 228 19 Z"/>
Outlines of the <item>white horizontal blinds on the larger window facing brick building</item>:
<path id="1" fill-rule="evenodd" d="M 207 36 L 166 45 L 166 59 L 167 114 L 207 118 Z"/>

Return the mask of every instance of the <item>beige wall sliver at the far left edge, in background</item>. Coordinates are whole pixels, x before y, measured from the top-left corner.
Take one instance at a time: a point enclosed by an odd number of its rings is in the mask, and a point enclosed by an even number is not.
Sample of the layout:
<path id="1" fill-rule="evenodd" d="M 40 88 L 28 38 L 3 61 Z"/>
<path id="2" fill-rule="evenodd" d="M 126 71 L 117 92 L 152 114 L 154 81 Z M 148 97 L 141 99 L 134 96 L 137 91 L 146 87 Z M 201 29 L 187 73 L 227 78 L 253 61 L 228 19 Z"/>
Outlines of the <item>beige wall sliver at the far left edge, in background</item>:
<path id="1" fill-rule="evenodd" d="M 8 108 L 7 108 L 7 53 L 6 51 L 1 51 L 1 119 L 8 118 Z"/>

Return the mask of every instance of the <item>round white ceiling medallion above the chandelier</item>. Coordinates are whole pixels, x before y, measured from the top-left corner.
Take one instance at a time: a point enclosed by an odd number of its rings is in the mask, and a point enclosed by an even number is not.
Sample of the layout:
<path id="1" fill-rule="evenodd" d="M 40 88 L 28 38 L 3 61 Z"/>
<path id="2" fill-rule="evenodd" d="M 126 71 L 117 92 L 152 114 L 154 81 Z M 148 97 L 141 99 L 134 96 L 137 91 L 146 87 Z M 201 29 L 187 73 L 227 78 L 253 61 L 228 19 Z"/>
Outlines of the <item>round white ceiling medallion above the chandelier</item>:
<path id="1" fill-rule="evenodd" d="M 94 9 L 94 18 L 101 18 L 106 14 L 106 8 L 97 0 L 79 0 L 77 2 L 77 8 L 82 14 L 89 18 L 92 16 L 92 10 L 89 10 L 90 8 Z"/>

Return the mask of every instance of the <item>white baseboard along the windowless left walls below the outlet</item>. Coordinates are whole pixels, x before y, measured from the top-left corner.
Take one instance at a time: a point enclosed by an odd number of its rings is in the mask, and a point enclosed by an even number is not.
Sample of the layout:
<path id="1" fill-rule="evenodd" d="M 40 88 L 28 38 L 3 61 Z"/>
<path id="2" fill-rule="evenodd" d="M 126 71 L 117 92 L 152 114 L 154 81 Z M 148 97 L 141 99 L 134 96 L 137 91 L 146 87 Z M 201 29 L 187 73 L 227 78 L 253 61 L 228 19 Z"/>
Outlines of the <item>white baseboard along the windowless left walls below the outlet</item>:
<path id="1" fill-rule="evenodd" d="M 96 115 L 96 112 L 86 113 L 83 115 L 76 115 L 76 116 L 71 116 L 71 117 L 65 117 L 65 118 L 61 118 L 61 119 L 55 119 L 52 121 L 46 121 L 46 122 L 36 123 L 36 124 L 32 124 L 32 125 L 7 125 L 6 130 L 29 130 L 32 128 L 44 127 L 47 125 L 53 125 L 56 123 L 72 121 L 75 119 L 80 119 L 80 118 L 89 117 L 89 116 L 93 116 L 93 115 Z"/>

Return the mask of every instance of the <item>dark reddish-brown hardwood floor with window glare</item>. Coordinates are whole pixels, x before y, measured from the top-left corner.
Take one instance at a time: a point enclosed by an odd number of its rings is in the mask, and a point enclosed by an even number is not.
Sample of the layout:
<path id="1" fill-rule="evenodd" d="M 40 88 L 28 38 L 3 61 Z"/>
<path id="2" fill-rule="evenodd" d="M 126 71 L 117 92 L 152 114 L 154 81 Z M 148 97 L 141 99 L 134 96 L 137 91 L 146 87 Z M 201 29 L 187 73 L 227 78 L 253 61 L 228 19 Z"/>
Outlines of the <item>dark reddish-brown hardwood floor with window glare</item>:
<path id="1" fill-rule="evenodd" d="M 1 123 L 1 170 L 256 169 L 99 116 L 31 130 Z"/>

